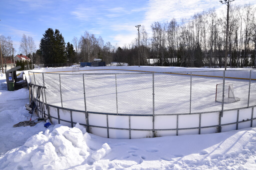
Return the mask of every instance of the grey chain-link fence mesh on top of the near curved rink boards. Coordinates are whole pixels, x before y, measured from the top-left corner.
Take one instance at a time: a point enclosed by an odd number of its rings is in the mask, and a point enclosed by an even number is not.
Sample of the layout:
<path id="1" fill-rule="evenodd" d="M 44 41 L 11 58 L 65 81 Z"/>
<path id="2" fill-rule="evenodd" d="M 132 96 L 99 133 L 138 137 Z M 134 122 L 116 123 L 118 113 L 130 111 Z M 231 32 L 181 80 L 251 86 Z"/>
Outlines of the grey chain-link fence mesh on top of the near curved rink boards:
<path id="1" fill-rule="evenodd" d="M 83 112 L 170 115 L 256 106 L 255 70 L 112 74 L 29 72 L 29 78 L 31 83 L 46 87 L 43 95 L 47 104 Z M 216 101 L 217 95 L 222 100 Z M 225 100 L 232 96 L 239 100 L 227 103 Z"/>

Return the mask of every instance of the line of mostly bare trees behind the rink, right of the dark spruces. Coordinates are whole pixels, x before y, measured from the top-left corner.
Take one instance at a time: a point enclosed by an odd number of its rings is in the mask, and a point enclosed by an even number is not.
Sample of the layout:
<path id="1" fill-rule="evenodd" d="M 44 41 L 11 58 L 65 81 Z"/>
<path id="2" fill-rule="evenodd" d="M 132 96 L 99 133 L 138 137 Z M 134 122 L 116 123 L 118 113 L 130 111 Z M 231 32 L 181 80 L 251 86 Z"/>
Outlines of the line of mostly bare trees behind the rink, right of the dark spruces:
<path id="1" fill-rule="evenodd" d="M 227 11 L 217 15 L 214 8 L 178 22 L 154 22 L 151 37 L 142 25 L 140 29 L 141 65 L 179 67 L 223 67 L 225 63 Z M 72 40 L 76 61 L 101 58 L 110 64 L 138 64 L 138 38 L 122 48 L 104 44 L 101 36 L 85 32 Z M 256 7 L 231 5 L 229 10 L 228 58 L 229 67 L 256 66 Z M 151 61 L 151 62 L 150 62 Z"/>

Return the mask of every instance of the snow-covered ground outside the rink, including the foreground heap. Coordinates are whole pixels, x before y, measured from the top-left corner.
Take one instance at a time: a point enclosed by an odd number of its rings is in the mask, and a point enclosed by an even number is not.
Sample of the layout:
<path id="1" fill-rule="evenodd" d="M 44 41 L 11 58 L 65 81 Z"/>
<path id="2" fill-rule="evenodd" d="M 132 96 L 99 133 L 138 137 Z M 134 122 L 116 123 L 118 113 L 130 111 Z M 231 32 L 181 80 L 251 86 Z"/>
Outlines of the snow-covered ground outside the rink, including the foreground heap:
<path id="1" fill-rule="evenodd" d="M 69 128 L 12 127 L 27 120 L 28 90 L 0 74 L 0 169 L 255 169 L 256 128 L 144 139 L 108 139 Z"/>

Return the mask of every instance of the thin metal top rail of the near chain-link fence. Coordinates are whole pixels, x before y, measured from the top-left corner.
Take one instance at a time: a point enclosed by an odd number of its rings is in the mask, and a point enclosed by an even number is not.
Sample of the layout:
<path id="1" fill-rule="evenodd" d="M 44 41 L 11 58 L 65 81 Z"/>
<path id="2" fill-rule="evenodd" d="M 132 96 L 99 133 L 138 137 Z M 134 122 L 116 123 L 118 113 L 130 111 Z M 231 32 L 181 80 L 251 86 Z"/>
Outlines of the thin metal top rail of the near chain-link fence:
<path id="1" fill-rule="evenodd" d="M 115 70 L 115 69 L 113 69 Z M 87 70 L 81 70 L 81 71 L 87 71 Z M 134 70 L 136 71 L 136 70 Z M 246 72 L 249 72 L 249 71 L 256 71 L 256 69 L 248 69 L 248 70 L 207 70 L 207 71 L 172 71 L 172 72 L 153 72 L 153 71 L 145 71 L 144 73 L 74 73 L 72 75 L 76 75 L 76 74 L 101 74 L 101 75 L 115 75 L 115 74 L 171 74 L 171 73 L 177 73 L 177 74 L 192 74 L 192 73 L 200 73 L 200 72 L 235 72 L 235 71 L 239 71 L 239 72 L 243 72 L 243 71 L 246 71 Z M 43 72 L 34 72 L 34 71 L 28 71 L 29 73 L 43 73 Z M 44 74 L 68 74 L 68 73 L 44 73 Z M 68 74 L 70 75 L 70 74 Z"/>

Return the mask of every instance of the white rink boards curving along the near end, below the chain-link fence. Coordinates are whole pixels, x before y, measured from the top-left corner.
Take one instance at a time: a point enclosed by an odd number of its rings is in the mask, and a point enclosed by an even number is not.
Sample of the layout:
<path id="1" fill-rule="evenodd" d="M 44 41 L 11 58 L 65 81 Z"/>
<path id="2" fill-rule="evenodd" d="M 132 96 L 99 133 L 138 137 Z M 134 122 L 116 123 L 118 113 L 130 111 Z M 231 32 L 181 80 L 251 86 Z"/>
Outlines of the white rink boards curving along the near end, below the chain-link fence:
<path id="1" fill-rule="evenodd" d="M 50 115 L 58 118 L 57 108 L 49 107 Z M 239 121 L 237 125 L 237 112 L 238 110 L 226 111 L 221 117 L 222 125 L 221 132 L 227 132 L 230 130 L 236 130 L 241 128 L 251 127 L 251 121 L 243 122 L 245 117 L 252 115 L 252 108 L 240 109 L 239 110 Z M 70 111 L 59 109 L 60 119 L 70 120 Z M 62 115 L 61 115 L 62 114 Z M 95 114 L 88 113 L 89 125 L 99 126 L 90 127 L 90 133 L 101 136 L 115 138 L 115 139 L 136 139 L 136 138 L 146 138 L 153 137 L 153 117 L 152 116 L 130 116 L 130 126 L 131 129 L 147 129 L 147 130 L 130 130 L 129 132 L 129 116 L 124 115 L 106 115 L 106 114 Z M 201 127 L 200 134 L 217 133 L 219 131 L 219 117 L 220 113 L 201 113 L 201 122 L 199 123 L 200 114 L 186 114 L 178 115 L 178 135 L 193 135 L 199 134 L 199 126 Z M 232 118 L 231 116 L 234 116 Z M 241 117 L 240 117 L 241 116 Z M 108 119 L 107 119 L 108 117 Z M 58 124 L 58 120 L 51 119 L 54 124 Z M 86 123 L 86 116 L 83 112 L 72 111 L 73 122 L 79 122 L 82 124 Z M 108 120 L 108 121 L 107 121 Z M 162 124 L 161 124 L 162 122 Z M 223 123 L 224 122 L 224 123 Z M 71 123 L 60 121 L 60 124 L 71 127 Z M 108 126 L 107 126 L 108 125 Z M 217 126 L 216 126 L 217 125 Z M 73 124 L 74 126 L 74 124 Z M 208 127 L 216 126 L 216 127 Z M 256 120 L 252 121 L 252 126 L 256 126 Z M 108 129 L 108 127 L 110 129 Z M 205 127 L 205 128 L 204 128 Z M 112 129 L 112 128 L 122 128 L 122 129 Z M 177 115 L 157 115 L 155 116 L 154 122 L 154 137 L 161 136 L 175 136 L 177 133 Z M 187 129 L 182 129 L 187 128 Z M 157 130 L 161 129 L 161 130 Z M 172 129 L 172 130 L 164 130 Z M 109 132 L 108 132 L 109 131 Z M 131 135 L 131 136 L 130 136 Z"/>

